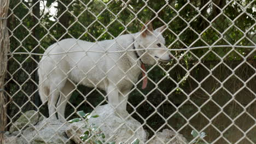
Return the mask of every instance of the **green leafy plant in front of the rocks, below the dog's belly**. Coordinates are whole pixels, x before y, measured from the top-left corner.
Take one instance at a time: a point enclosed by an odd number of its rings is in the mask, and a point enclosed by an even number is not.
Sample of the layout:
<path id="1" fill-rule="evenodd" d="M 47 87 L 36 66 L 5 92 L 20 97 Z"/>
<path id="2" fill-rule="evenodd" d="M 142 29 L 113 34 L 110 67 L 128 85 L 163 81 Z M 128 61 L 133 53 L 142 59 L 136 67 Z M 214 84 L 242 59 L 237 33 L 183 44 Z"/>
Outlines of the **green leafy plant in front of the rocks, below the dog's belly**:
<path id="1" fill-rule="evenodd" d="M 78 111 L 77 112 L 80 117 L 84 118 L 85 126 L 83 128 L 86 129 L 84 134 L 80 136 L 80 139 L 86 143 L 90 144 L 102 144 L 105 143 L 105 135 L 102 133 L 101 129 L 96 126 L 95 123 L 89 124 L 89 119 L 90 118 L 97 118 L 99 117 L 98 115 L 92 116 L 91 113 L 84 113 L 84 111 Z M 82 118 L 74 118 L 68 121 L 69 123 L 75 123 L 75 122 L 80 122 L 83 121 Z M 108 142 L 106 144 L 115 144 L 115 142 Z M 123 144 L 123 143 L 119 143 Z M 139 144 L 139 140 L 135 139 L 132 141 L 131 144 Z"/>

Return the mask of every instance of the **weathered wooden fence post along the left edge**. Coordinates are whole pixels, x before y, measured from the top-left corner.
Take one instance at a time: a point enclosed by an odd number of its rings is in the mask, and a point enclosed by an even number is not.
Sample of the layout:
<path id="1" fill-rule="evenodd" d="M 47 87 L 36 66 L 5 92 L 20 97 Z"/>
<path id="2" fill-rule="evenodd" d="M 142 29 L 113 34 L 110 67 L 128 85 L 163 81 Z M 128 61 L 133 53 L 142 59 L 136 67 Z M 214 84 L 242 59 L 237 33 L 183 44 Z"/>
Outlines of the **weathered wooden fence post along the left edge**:
<path id="1" fill-rule="evenodd" d="M 6 124 L 4 77 L 7 70 L 7 53 L 9 52 L 9 35 L 7 30 L 9 0 L 0 1 L 0 143 L 4 143 Z"/>

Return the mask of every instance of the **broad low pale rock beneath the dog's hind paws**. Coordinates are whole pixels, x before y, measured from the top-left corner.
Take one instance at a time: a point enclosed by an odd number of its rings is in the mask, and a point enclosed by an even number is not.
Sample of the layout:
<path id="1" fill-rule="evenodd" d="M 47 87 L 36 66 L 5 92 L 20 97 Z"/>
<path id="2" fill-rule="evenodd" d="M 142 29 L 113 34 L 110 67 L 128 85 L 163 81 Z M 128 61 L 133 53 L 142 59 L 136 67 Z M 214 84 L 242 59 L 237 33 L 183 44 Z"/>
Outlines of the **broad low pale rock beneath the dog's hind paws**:
<path id="1" fill-rule="evenodd" d="M 69 140 L 65 134 L 68 129 L 68 124 L 59 120 L 44 119 L 39 124 L 26 128 L 16 136 L 13 136 L 13 134 L 6 135 L 5 142 L 7 144 L 72 144 L 73 141 Z"/>

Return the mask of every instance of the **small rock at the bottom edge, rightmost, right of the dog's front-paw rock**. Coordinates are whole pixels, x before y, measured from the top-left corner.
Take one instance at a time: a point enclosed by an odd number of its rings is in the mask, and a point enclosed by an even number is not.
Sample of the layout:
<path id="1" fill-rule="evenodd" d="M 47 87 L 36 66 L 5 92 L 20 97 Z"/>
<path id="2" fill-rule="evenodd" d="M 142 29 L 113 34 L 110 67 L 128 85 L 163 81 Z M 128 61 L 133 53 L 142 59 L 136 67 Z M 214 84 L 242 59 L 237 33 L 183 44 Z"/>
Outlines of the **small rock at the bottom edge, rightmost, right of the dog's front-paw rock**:
<path id="1" fill-rule="evenodd" d="M 171 140 L 173 137 L 174 139 Z M 176 134 L 172 130 L 164 129 L 162 130 L 162 132 L 156 133 L 156 136 L 154 137 L 154 139 L 150 140 L 148 144 L 155 144 L 155 143 L 165 144 L 167 142 L 170 144 L 187 144 L 188 143 L 188 141 L 185 139 L 185 137 L 183 137 L 183 135 Z"/>

